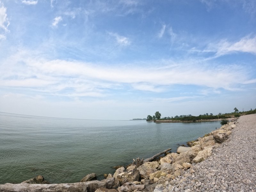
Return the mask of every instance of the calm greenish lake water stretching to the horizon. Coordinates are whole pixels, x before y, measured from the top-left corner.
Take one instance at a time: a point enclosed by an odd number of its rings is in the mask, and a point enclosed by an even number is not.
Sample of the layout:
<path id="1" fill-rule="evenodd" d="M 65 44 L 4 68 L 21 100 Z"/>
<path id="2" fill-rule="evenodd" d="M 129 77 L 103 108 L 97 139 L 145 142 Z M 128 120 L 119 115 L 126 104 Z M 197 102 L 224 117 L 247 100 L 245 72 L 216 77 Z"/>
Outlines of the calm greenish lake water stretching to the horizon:
<path id="1" fill-rule="evenodd" d="M 0 184 L 43 175 L 51 183 L 79 182 L 95 172 L 148 158 L 220 127 L 204 123 L 154 123 L 64 119 L 0 113 Z"/>

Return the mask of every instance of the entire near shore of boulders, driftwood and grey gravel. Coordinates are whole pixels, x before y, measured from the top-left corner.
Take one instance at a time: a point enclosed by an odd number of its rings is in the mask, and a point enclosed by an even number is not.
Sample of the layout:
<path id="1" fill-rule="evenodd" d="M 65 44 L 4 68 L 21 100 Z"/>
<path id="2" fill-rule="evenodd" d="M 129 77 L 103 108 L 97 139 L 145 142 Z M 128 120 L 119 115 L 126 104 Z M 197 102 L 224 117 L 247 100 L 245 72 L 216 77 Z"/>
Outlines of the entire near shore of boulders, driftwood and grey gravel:
<path id="1" fill-rule="evenodd" d="M 134 160 L 102 181 L 89 174 L 78 183 L 31 184 L 38 183 L 34 178 L 0 185 L 0 191 L 256 191 L 256 114 L 241 116 L 188 143 L 191 149 L 184 153 L 146 163 Z"/>

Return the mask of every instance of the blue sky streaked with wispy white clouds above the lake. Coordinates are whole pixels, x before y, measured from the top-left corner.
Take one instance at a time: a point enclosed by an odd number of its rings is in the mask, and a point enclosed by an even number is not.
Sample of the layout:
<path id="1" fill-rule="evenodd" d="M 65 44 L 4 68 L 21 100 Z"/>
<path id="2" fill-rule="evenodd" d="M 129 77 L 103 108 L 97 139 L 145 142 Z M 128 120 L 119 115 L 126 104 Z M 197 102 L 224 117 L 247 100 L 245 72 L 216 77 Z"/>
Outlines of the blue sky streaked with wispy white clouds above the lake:
<path id="1" fill-rule="evenodd" d="M 255 95 L 255 0 L 0 0 L 1 112 L 215 115 Z"/>

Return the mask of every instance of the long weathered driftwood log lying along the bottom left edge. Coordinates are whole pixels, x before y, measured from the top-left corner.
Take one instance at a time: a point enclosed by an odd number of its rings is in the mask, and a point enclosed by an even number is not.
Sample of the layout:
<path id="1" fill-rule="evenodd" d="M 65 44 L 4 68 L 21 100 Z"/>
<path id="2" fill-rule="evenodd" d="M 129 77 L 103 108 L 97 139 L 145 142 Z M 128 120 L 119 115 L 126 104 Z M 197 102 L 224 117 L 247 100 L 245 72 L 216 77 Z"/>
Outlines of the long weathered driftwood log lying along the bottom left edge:
<path id="1" fill-rule="evenodd" d="M 1 192 L 94 192 L 97 188 L 112 188 L 114 178 L 78 183 L 60 184 L 11 184 L 0 185 Z"/>

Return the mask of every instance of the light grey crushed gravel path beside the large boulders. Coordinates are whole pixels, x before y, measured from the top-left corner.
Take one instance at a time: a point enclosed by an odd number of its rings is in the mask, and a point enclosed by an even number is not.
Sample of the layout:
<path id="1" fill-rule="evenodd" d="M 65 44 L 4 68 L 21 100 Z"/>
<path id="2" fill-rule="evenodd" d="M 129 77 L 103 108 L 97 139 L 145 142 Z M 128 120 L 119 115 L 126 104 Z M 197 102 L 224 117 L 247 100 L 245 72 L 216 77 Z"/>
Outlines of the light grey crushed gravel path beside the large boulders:
<path id="1" fill-rule="evenodd" d="M 163 192 L 256 192 L 256 114 L 239 117 L 229 139 L 212 156 L 163 187 Z"/>

